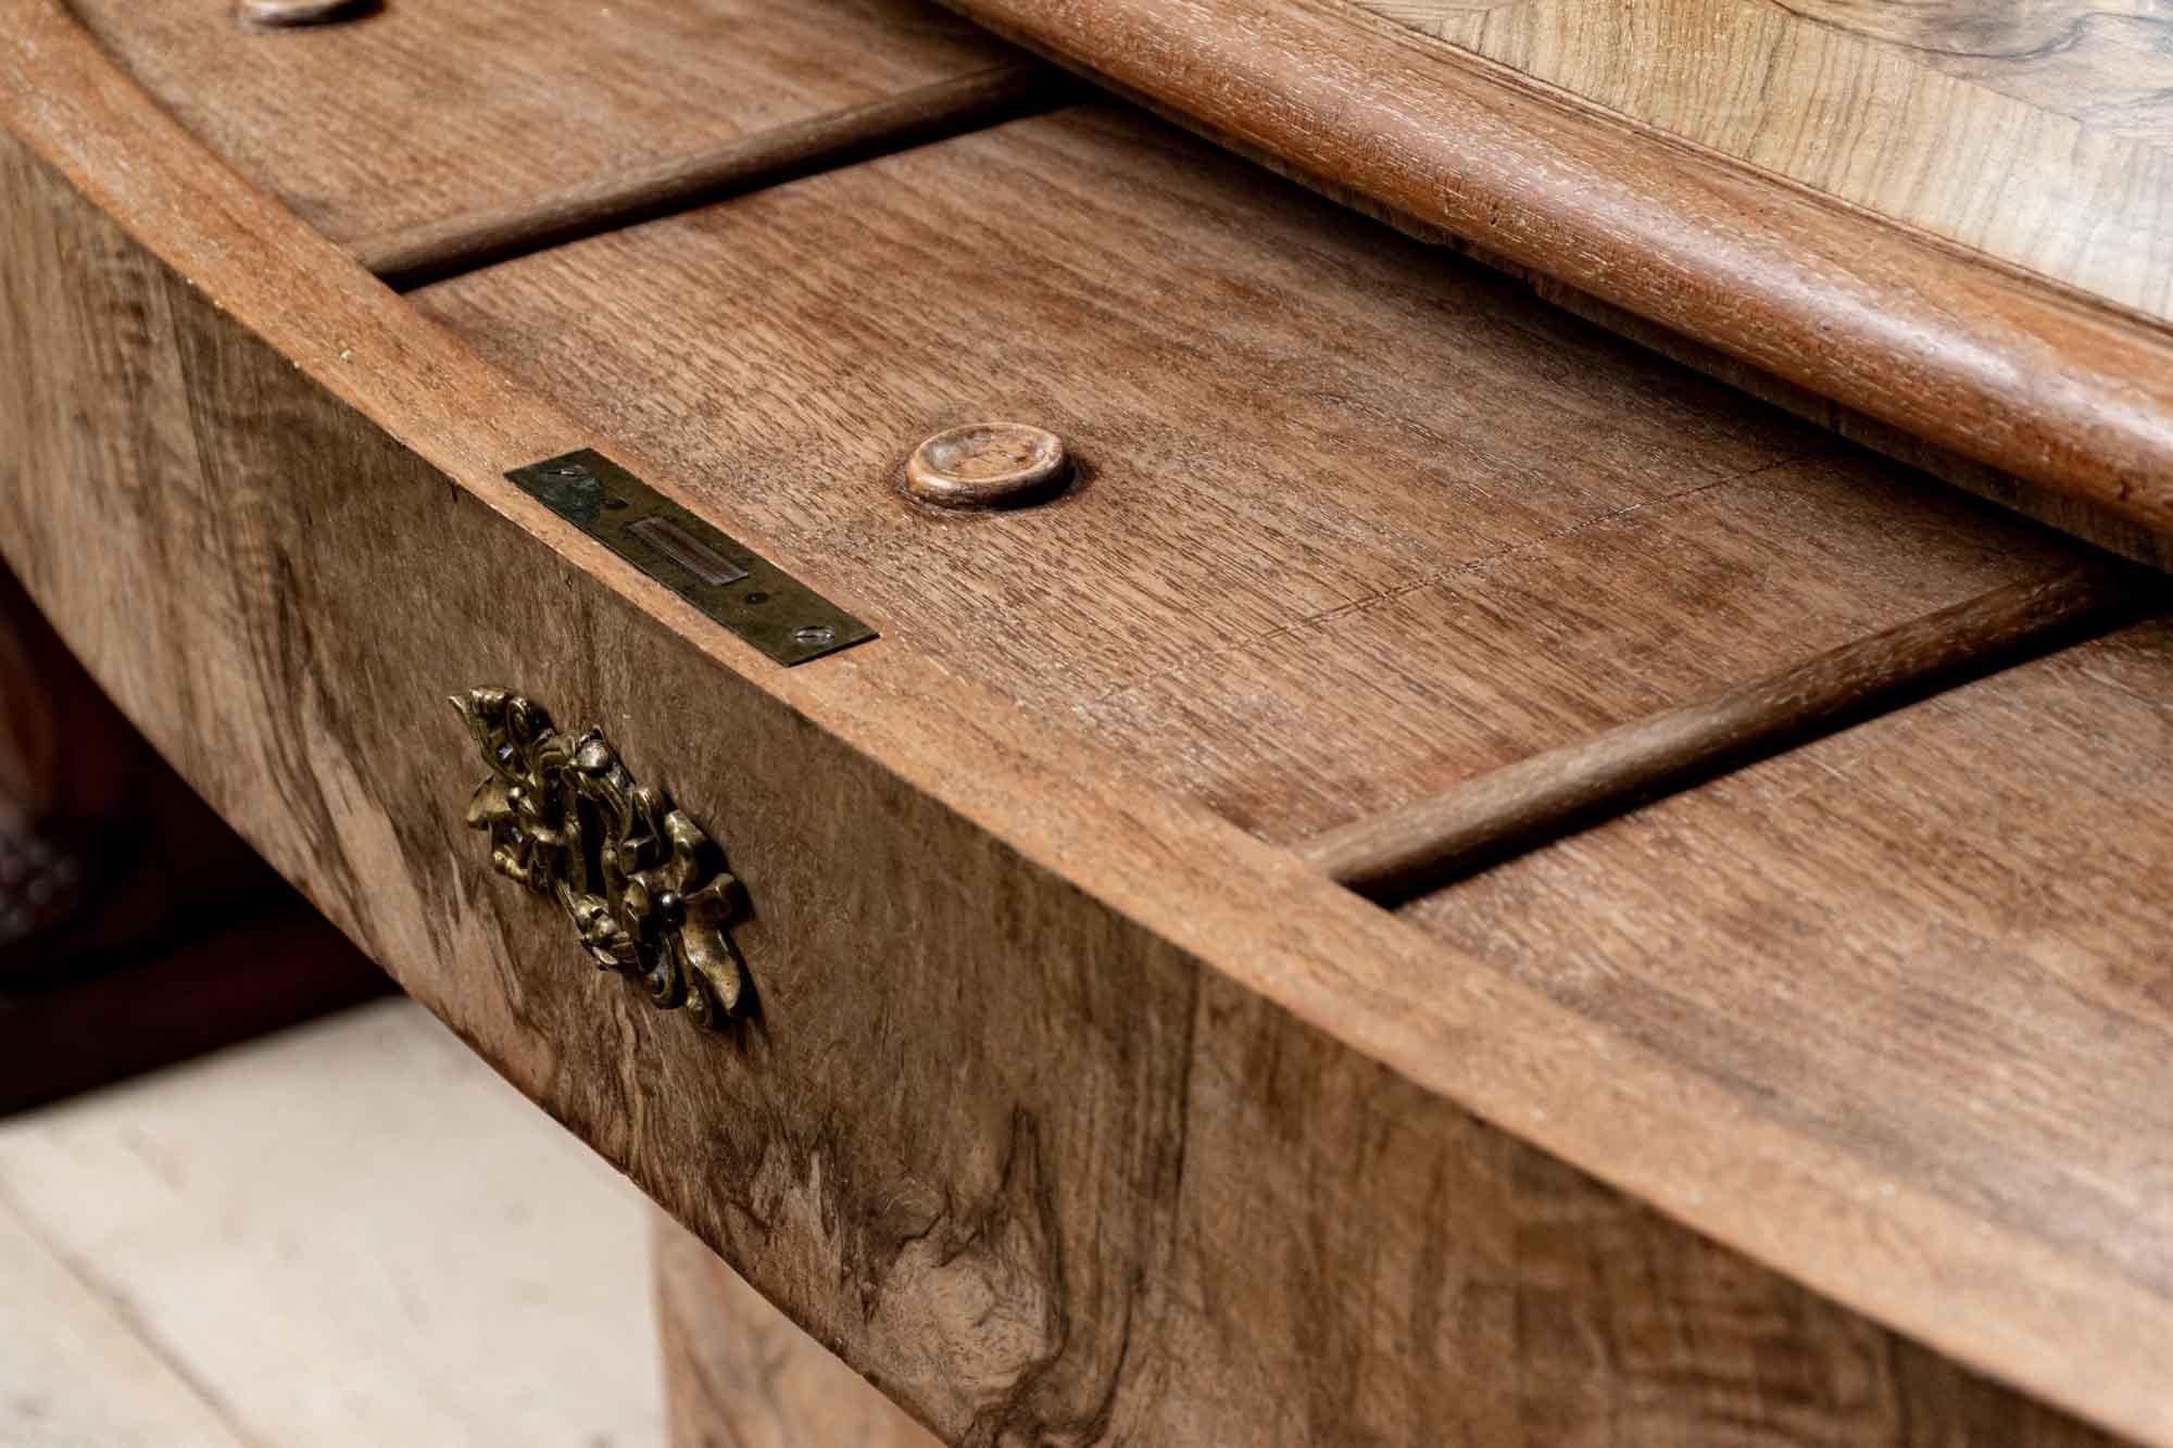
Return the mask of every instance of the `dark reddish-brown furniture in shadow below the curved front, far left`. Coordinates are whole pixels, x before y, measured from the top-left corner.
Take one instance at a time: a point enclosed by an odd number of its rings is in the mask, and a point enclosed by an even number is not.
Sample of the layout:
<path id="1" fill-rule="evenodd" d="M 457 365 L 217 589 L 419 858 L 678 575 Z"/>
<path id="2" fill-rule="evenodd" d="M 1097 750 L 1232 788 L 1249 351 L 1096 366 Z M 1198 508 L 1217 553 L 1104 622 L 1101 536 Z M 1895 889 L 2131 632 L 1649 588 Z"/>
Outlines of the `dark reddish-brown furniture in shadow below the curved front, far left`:
<path id="1" fill-rule="evenodd" d="M 0 1113 L 382 989 L 0 570 Z"/>

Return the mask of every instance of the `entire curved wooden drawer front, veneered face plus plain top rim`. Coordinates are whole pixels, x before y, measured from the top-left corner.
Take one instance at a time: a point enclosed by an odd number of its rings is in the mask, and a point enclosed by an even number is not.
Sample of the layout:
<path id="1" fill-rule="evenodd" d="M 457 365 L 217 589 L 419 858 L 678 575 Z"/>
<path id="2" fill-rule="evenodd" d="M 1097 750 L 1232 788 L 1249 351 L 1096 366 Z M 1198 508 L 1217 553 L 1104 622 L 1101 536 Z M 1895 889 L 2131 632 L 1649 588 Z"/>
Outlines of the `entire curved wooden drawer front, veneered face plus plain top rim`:
<path id="1" fill-rule="evenodd" d="M 500 476 L 669 467 L 50 4 L 4 17 L 0 550 L 350 935 L 941 1437 L 2090 1441 L 1956 1357 L 2173 1437 L 2169 1309 L 2103 1261 L 1745 1118 L 895 639 L 769 667 Z M 608 722 L 726 839 L 758 1028 L 680 1031 L 491 878 L 437 702 L 478 676 Z"/>

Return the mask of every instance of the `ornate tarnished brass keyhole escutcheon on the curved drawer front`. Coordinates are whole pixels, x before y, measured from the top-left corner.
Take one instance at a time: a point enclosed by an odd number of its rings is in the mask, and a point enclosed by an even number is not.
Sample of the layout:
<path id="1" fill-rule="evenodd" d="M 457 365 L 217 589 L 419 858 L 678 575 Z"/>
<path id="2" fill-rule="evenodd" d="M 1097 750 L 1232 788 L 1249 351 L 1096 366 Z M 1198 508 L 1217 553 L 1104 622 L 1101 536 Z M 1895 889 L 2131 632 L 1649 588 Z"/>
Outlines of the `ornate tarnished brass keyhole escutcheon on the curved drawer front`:
<path id="1" fill-rule="evenodd" d="M 598 968 L 637 981 L 663 1011 L 704 1026 L 739 1011 L 743 976 L 724 926 L 739 881 L 663 789 L 637 785 L 600 731 L 552 728 L 504 689 L 454 698 L 491 776 L 467 828 L 491 837 L 491 865 L 552 896 Z"/>

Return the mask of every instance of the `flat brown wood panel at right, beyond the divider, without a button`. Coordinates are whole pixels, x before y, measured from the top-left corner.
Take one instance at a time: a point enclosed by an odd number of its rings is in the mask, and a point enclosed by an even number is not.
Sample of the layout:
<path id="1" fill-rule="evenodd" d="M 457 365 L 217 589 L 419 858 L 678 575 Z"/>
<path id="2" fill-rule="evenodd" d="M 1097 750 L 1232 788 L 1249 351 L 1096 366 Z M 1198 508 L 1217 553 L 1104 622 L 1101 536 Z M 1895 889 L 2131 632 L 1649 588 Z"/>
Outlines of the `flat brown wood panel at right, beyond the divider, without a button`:
<path id="1" fill-rule="evenodd" d="M 1402 913 L 1745 1115 L 2166 1298 L 2169 750 L 2173 626 L 2143 624 Z"/>

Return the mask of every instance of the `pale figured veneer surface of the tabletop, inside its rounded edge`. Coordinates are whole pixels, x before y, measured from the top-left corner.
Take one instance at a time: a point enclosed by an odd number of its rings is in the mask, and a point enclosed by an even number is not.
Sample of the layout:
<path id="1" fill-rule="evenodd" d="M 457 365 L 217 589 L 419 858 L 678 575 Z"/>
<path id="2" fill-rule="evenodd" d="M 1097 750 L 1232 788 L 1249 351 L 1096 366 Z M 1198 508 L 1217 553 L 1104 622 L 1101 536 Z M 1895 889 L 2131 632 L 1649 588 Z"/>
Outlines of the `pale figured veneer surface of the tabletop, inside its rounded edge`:
<path id="1" fill-rule="evenodd" d="M 1775 176 L 2173 315 L 2158 0 L 1352 0 Z"/>

